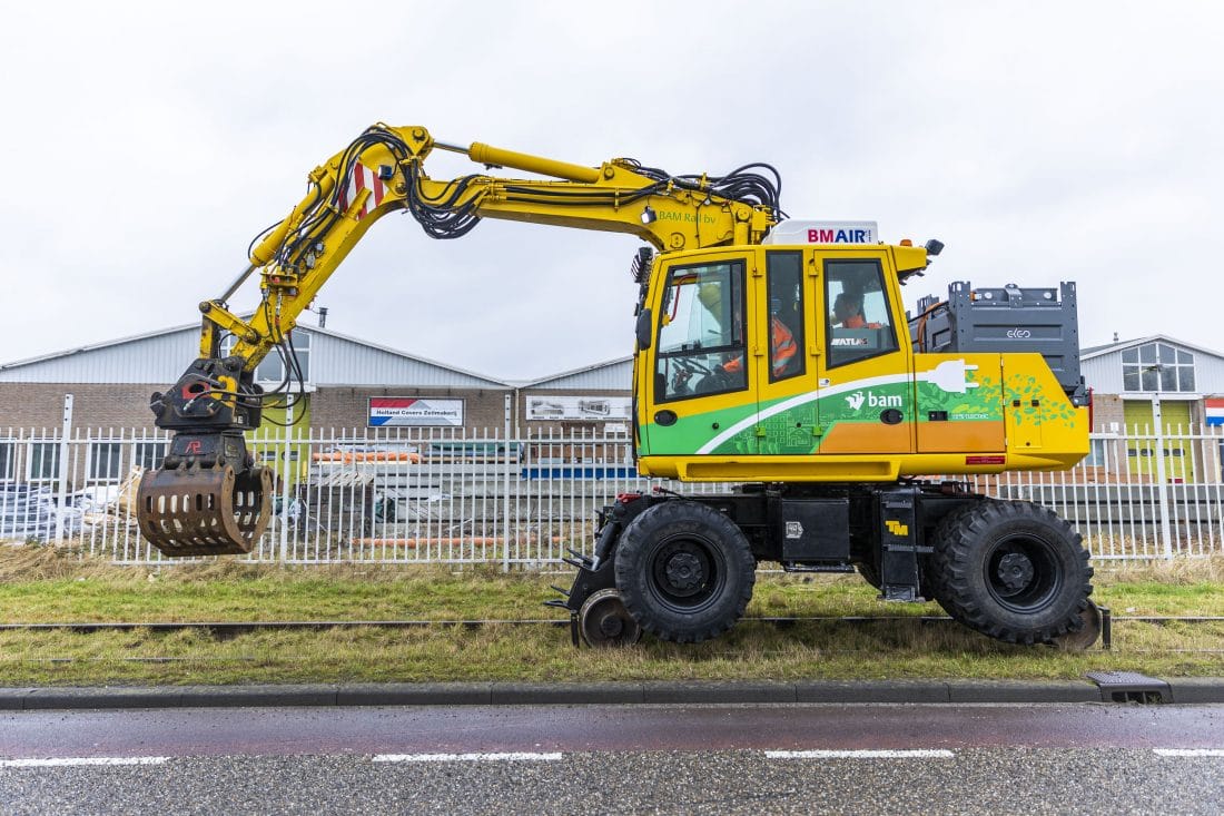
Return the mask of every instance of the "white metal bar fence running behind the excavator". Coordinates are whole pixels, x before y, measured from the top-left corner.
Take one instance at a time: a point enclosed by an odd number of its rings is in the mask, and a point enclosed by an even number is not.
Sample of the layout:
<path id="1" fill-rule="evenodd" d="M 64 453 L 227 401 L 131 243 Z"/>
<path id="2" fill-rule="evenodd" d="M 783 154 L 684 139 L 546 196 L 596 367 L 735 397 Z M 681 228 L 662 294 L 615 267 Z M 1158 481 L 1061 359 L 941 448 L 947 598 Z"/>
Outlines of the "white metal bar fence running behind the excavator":
<path id="1" fill-rule="evenodd" d="M 1224 429 L 1094 435 L 1065 473 L 973 479 L 1000 497 L 1054 508 L 1097 559 L 1224 551 Z M 160 561 L 135 518 L 135 477 L 164 435 L 0 429 L 0 539 L 61 540 L 116 562 Z M 503 430 L 288 430 L 256 437 L 278 473 L 275 515 L 248 557 L 294 564 L 541 565 L 589 550 L 595 511 L 618 493 L 730 485 L 639 477 L 624 436 Z"/>

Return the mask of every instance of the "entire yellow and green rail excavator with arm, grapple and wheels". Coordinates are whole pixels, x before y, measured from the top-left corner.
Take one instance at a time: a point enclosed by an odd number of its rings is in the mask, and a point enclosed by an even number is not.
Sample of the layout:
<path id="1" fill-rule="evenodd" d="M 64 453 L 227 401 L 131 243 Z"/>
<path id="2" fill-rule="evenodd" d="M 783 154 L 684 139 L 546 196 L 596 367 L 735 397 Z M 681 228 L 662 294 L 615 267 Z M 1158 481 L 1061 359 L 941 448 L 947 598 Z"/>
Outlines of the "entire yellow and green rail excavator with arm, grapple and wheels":
<path id="1" fill-rule="evenodd" d="M 435 180 L 435 151 L 486 169 Z M 202 303 L 200 358 L 153 395 L 175 433 L 140 485 L 141 532 L 168 556 L 251 550 L 272 480 L 244 433 L 271 353 L 294 376 L 297 317 L 365 232 L 406 210 L 433 238 L 481 218 L 636 235 L 633 437 L 638 469 L 734 483 L 722 494 L 624 494 L 600 513 L 565 598 L 575 643 L 643 631 L 698 642 L 730 629 L 758 562 L 857 570 L 889 600 L 936 599 L 1010 642 L 1087 646 L 1099 632 L 1082 539 L 1050 510 L 976 494 L 962 474 L 1058 470 L 1088 451 L 1075 288 L 950 287 L 911 317 L 901 284 L 942 249 L 884 244 L 874 222 L 786 219 L 766 164 L 672 175 L 599 167 L 375 125 L 308 176 L 306 196 Z M 250 317 L 228 300 L 255 272 Z M 223 339 L 231 336 L 223 354 Z M 941 474 L 939 479 L 922 478 Z"/>

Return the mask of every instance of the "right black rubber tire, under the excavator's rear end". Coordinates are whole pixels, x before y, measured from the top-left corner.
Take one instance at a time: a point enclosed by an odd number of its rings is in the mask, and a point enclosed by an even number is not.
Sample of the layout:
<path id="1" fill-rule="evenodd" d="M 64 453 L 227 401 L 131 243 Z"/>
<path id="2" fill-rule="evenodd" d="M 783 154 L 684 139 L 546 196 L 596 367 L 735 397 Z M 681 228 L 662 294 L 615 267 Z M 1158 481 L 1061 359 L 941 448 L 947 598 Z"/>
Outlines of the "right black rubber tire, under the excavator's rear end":
<path id="1" fill-rule="evenodd" d="M 930 591 L 969 629 L 1009 643 L 1044 643 L 1083 626 L 1088 551 L 1048 507 L 976 501 L 949 513 L 934 548 Z"/>

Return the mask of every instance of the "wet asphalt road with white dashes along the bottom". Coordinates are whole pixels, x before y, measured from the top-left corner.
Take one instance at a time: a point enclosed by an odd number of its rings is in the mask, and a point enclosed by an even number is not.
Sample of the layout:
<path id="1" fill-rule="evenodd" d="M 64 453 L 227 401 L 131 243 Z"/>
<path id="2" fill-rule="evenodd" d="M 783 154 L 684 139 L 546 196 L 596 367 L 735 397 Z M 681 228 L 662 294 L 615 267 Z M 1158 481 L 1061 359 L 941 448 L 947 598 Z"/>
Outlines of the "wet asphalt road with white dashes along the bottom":
<path id="1" fill-rule="evenodd" d="M 1217 706 L 21 712 L 4 814 L 1218 814 Z"/>

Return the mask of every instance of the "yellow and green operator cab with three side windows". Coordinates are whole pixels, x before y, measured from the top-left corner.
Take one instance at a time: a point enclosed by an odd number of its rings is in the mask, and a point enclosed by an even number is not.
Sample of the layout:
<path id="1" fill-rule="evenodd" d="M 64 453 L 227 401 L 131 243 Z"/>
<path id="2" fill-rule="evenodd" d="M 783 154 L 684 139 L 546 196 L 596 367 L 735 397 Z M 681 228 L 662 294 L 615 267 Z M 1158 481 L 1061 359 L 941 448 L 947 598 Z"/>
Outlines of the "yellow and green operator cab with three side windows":
<path id="1" fill-rule="evenodd" d="M 644 470 L 819 480 L 813 457 L 856 452 L 891 473 L 913 450 L 914 418 L 894 252 L 775 244 L 660 257 L 645 299 L 655 334 L 636 357 Z"/>

